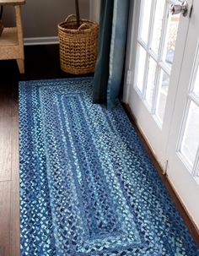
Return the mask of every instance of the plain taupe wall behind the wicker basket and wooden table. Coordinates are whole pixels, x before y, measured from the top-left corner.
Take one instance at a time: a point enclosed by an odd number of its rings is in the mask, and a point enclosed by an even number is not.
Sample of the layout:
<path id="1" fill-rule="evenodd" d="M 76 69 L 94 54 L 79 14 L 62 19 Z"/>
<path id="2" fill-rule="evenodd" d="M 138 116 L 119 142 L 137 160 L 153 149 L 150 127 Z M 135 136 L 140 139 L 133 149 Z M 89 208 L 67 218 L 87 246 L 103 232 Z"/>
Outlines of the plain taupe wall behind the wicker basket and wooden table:
<path id="1" fill-rule="evenodd" d="M 56 36 L 57 24 L 68 14 L 75 13 L 74 3 L 74 0 L 26 0 L 22 6 L 24 37 Z M 88 19 L 89 0 L 79 0 L 79 5 L 81 17 Z M 6 6 L 4 9 L 4 25 L 13 25 L 13 7 Z"/>

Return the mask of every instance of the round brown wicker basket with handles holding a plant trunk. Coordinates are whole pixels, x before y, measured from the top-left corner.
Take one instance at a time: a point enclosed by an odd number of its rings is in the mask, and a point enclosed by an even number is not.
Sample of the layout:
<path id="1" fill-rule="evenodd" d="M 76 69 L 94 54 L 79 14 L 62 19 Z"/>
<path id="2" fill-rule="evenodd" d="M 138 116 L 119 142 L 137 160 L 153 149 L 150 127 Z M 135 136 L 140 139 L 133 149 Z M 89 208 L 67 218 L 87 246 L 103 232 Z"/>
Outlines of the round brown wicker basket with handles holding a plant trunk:
<path id="1" fill-rule="evenodd" d="M 97 58 L 99 25 L 81 19 L 77 29 L 76 15 L 71 14 L 58 25 L 60 63 L 63 71 L 70 74 L 94 72 Z"/>

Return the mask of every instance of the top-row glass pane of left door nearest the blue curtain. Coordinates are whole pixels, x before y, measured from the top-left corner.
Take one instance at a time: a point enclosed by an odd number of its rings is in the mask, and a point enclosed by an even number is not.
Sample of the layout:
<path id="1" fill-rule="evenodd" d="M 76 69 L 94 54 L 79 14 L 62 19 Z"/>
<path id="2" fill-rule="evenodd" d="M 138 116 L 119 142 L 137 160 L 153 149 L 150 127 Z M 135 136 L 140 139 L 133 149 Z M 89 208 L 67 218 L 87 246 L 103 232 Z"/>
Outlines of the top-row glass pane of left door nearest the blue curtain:
<path id="1" fill-rule="evenodd" d="M 140 20 L 139 20 L 139 37 L 148 43 L 148 27 L 150 22 L 152 0 L 143 0 L 141 4 Z"/>

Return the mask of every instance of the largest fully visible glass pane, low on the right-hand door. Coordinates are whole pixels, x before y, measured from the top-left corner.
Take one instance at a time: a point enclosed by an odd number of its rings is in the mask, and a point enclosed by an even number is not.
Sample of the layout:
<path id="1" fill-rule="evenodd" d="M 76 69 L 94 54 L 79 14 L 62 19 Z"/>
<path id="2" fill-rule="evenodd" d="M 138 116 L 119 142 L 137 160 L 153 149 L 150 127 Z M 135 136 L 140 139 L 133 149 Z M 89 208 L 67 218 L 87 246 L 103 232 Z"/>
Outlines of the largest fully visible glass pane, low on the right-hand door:
<path id="1" fill-rule="evenodd" d="M 199 145 L 199 107 L 191 101 L 180 152 L 193 166 Z"/>

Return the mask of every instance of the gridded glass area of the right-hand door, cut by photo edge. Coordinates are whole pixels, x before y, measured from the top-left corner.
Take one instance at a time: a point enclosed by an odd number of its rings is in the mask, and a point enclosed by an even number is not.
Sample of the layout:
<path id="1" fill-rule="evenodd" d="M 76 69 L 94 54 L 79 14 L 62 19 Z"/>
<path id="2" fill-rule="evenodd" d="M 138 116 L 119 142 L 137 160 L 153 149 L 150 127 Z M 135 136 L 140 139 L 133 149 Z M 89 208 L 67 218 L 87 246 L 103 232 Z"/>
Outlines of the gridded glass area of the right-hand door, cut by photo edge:
<path id="1" fill-rule="evenodd" d="M 179 137 L 177 153 L 187 169 L 199 181 L 199 41 Z"/>

